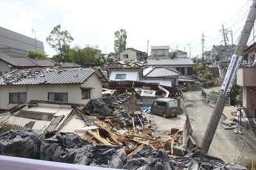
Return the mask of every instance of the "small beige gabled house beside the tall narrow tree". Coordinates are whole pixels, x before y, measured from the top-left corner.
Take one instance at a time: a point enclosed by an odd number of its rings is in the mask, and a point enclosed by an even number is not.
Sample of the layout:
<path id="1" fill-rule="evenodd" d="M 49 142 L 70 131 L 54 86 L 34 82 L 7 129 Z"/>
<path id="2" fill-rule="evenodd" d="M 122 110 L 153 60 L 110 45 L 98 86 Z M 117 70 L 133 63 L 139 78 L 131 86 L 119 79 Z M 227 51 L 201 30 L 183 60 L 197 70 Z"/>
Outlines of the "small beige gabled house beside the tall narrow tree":
<path id="1" fill-rule="evenodd" d="M 120 52 L 120 60 L 137 60 L 137 61 L 146 61 L 148 54 L 140 50 L 133 48 L 128 48 Z"/>

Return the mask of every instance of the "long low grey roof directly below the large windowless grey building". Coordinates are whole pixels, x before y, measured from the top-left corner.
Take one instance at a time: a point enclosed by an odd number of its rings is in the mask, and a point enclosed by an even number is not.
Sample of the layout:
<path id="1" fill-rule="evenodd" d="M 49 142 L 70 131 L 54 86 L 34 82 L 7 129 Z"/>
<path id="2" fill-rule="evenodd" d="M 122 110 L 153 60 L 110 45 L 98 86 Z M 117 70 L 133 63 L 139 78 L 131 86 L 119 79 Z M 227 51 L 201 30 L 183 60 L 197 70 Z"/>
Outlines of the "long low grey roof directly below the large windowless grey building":
<path id="1" fill-rule="evenodd" d="M 30 58 L 11 58 L 6 54 L 0 53 L 0 59 L 8 65 L 23 67 L 23 66 L 55 66 L 58 65 L 55 61 L 51 59 L 30 59 Z"/>

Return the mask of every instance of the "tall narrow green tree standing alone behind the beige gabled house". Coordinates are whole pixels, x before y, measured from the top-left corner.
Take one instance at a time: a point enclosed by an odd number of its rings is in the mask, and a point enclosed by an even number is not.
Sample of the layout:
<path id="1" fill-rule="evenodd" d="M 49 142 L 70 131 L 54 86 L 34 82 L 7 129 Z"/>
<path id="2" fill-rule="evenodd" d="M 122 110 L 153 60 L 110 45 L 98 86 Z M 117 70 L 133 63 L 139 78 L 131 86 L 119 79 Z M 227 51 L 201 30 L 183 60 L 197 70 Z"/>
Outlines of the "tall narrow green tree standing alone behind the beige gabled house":
<path id="1" fill-rule="evenodd" d="M 126 49 L 126 31 L 125 29 L 120 29 L 120 31 L 115 31 L 114 33 L 114 50 L 117 54 L 120 54 L 123 50 Z"/>

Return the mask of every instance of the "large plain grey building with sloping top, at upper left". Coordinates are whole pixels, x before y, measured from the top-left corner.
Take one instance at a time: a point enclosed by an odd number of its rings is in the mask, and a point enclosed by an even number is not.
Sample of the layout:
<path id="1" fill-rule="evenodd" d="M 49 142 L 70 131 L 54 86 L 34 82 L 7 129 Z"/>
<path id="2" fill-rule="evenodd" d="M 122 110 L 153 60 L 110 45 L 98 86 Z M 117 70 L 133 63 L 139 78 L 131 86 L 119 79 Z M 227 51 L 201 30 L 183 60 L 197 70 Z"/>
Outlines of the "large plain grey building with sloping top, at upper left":
<path id="1" fill-rule="evenodd" d="M 25 58 L 28 50 L 44 52 L 44 43 L 37 38 L 30 38 L 0 27 L 0 52 L 12 58 Z"/>

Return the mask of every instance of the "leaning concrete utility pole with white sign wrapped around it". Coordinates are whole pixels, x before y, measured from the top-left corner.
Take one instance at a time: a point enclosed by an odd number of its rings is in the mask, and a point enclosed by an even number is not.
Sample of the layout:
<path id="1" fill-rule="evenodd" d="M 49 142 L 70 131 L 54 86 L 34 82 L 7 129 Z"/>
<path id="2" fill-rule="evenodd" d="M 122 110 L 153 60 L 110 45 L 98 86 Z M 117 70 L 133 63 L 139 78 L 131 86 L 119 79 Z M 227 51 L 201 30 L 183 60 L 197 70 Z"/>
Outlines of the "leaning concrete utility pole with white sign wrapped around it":
<path id="1" fill-rule="evenodd" d="M 248 17 L 243 27 L 243 31 L 241 32 L 239 42 L 237 43 L 235 53 L 232 56 L 230 65 L 228 66 L 228 72 L 226 72 L 223 85 L 221 86 L 219 98 L 214 107 L 214 111 L 212 112 L 212 116 L 210 117 L 210 121 L 207 125 L 207 129 L 205 130 L 205 134 L 203 135 L 203 139 L 201 141 L 201 147 L 203 148 L 205 153 L 208 153 L 209 151 L 210 144 L 212 143 L 214 133 L 216 132 L 216 128 L 218 126 L 219 120 L 221 118 L 221 114 L 226 104 L 226 99 L 230 95 L 230 91 L 234 83 L 235 77 L 237 75 L 237 70 L 243 58 L 244 49 L 246 47 L 250 33 L 252 31 L 255 18 L 256 18 L 256 0 L 253 0 L 250 12 L 248 14 Z"/>

